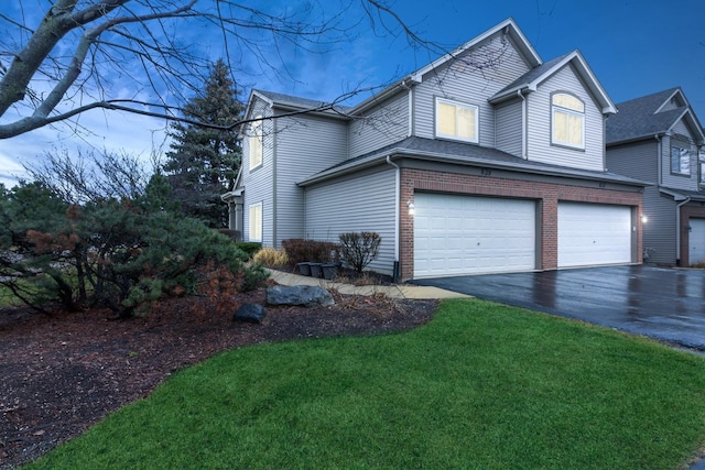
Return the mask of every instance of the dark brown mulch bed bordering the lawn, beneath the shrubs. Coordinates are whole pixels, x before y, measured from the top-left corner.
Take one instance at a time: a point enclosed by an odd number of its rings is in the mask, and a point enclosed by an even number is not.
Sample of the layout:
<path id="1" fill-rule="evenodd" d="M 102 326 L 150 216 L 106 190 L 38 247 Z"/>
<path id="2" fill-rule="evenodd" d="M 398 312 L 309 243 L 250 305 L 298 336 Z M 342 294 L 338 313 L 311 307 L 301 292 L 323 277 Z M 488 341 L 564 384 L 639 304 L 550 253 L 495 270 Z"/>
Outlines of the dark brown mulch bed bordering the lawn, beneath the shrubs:
<path id="1" fill-rule="evenodd" d="M 243 303 L 264 305 L 264 289 L 231 298 L 228 314 L 203 313 L 193 298 L 128 320 L 110 320 L 104 310 L 0 310 L 0 469 L 36 459 L 149 395 L 174 371 L 220 351 L 405 330 L 429 321 L 437 307 L 435 300 L 334 296 L 329 307 L 269 307 L 261 325 L 231 318 Z"/>

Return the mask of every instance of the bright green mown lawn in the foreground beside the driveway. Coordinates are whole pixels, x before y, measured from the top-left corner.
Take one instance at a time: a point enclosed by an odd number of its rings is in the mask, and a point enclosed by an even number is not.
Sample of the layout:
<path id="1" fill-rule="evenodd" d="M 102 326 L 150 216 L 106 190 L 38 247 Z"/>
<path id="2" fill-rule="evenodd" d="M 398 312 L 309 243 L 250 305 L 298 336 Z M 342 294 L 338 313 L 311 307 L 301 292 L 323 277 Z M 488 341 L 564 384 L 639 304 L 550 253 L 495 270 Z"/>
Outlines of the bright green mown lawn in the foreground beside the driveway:
<path id="1" fill-rule="evenodd" d="M 410 332 L 220 354 L 45 456 L 46 469 L 679 469 L 705 359 L 498 304 Z"/>

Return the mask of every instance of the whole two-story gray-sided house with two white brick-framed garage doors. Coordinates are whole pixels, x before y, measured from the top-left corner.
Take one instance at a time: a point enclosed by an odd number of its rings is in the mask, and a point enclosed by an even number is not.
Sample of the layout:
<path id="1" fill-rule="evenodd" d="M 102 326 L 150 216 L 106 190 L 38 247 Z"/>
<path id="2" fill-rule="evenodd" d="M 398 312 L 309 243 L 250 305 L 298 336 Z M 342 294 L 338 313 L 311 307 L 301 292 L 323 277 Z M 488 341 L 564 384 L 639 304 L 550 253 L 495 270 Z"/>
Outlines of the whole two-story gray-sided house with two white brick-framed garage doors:
<path id="1" fill-rule="evenodd" d="M 402 280 L 641 262 L 644 184 L 605 171 L 616 109 L 577 51 L 544 63 L 509 19 L 352 108 L 297 113 L 321 106 L 252 91 L 264 120 L 224 195 L 245 240 L 375 231 L 370 267 Z"/>

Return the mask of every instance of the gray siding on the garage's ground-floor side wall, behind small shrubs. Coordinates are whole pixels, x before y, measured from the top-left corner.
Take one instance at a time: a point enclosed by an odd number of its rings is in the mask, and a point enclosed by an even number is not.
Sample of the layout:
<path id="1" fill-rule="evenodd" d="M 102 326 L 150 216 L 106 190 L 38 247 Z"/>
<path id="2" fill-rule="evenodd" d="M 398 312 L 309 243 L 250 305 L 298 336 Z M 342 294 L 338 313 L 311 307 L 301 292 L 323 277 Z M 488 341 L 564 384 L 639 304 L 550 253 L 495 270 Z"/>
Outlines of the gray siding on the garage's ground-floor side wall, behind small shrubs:
<path id="1" fill-rule="evenodd" d="M 393 168 L 366 172 L 306 188 L 306 238 L 337 242 L 345 232 L 372 231 L 382 238 L 369 269 L 392 274 L 395 234 Z"/>

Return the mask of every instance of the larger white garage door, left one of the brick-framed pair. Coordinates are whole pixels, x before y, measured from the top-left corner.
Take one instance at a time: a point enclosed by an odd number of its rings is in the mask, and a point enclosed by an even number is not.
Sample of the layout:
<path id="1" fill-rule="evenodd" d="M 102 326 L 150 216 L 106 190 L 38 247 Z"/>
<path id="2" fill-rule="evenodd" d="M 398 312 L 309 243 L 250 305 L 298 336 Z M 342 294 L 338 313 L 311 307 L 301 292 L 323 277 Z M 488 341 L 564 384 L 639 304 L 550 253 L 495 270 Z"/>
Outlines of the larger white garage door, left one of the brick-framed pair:
<path id="1" fill-rule="evenodd" d="M 531 200 L 417 193 L 414 277 L 535 269 Z"/>

